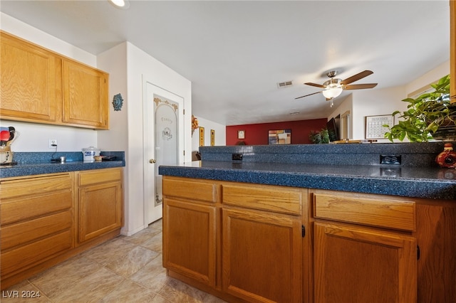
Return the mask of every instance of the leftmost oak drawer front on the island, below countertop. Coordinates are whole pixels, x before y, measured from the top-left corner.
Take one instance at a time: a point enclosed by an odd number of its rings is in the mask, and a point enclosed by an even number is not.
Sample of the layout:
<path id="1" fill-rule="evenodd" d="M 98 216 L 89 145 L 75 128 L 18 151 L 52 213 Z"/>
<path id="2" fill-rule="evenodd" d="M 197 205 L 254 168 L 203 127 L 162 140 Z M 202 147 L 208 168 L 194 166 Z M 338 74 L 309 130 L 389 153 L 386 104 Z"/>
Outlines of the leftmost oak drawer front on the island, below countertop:
<path id="1" fill-rule="evenodd" d="M 217 201 L 217 186 L 207 181 L 163 178 L 163 195 L 192 200 Z"/>

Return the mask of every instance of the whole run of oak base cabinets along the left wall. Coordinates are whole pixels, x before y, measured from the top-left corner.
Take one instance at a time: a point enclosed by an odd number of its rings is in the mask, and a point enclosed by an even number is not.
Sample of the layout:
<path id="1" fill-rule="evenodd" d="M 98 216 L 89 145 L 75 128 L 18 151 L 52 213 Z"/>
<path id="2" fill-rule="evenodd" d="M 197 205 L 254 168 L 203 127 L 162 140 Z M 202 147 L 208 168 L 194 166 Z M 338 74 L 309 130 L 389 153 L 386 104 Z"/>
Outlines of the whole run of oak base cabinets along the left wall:
<path id="1" fill-rule="evenodd" d="M 123 169 L 0 180 L 1 289 L 119 235 Z"/>

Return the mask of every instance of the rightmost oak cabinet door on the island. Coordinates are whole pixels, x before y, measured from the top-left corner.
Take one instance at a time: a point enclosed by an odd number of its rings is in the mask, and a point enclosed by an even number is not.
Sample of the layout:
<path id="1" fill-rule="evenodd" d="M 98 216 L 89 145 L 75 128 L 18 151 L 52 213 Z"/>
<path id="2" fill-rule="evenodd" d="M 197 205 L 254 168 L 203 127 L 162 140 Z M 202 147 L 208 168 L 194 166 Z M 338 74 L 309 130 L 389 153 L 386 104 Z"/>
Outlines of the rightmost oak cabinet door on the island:
<path id="1" fill-rule="evenodd" d="M 315 223 L 315 302 L 416 302 L 416 259 L 415 238 Z"/>

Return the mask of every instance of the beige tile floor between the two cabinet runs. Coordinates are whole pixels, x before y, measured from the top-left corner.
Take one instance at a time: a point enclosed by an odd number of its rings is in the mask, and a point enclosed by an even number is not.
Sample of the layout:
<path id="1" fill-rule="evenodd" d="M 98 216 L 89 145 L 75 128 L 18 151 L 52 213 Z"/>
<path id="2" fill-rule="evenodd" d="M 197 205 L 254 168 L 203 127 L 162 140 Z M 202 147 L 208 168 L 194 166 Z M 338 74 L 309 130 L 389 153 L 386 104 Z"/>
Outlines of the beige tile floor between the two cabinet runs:
<path id="1" fill-rule="evenodd" d="M 14 298 L 39 292 L 36 299 Z M 31 291 L 31 292 L 28 292 Z M 162 267 L 162 220 L 100 244 L 1 292 L 8 302 L 224 302 L 167 277 Z"/>

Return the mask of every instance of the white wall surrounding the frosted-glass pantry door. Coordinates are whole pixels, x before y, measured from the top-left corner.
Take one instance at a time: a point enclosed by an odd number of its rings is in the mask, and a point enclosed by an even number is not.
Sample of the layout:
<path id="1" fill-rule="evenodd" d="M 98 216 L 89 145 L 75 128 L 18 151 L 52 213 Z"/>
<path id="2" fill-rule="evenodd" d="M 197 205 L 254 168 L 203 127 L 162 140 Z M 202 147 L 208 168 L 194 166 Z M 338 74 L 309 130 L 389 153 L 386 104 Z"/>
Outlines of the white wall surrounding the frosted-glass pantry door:
<path id="1" fill-rule="evenodd" d="M 191 159 L 192 87 L 183 78 L 160 61 L 147 55 L 132 43 L 125 42 L 98 55 L 100 69 L 110 72 L 110 97 L 123 95 L 120 112 L 111 112 L 111 129 L 99 132 L 99 142 L 113 149 L 125 150 L 125 226 L 124 235 L 147 227 L 144 208 L 145 155 L 143 142 L 143 87 L 142 81 L 180 95 L 185 112 L 185 161 Z M 119 142 L 120 141 L 120 142 Z"/>

